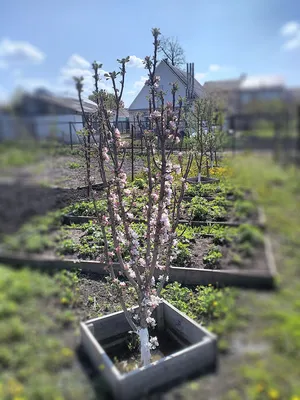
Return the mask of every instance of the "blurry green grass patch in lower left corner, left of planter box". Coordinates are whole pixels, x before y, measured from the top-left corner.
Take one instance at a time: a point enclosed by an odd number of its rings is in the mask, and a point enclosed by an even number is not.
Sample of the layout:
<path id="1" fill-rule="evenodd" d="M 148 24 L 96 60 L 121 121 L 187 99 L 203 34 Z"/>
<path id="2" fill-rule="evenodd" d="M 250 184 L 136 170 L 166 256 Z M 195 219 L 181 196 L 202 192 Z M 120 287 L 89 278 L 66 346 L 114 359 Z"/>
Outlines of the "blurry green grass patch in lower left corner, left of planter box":
<path id="1" fill-rule="evenodd" d="M 77 283 L 72 272 L 0 265 L 1 400 L 95 398 L 76 366 Z"/>

